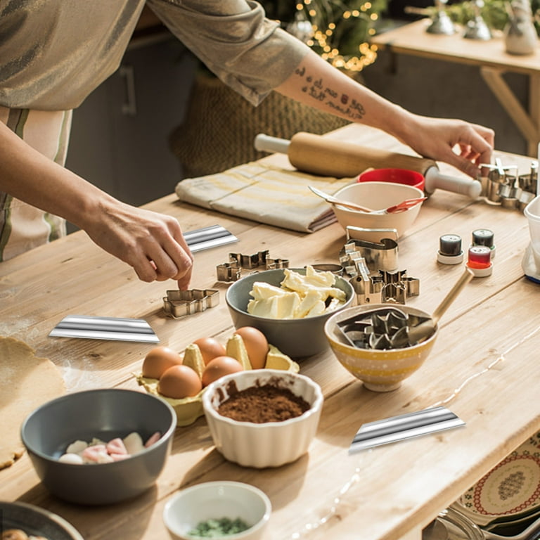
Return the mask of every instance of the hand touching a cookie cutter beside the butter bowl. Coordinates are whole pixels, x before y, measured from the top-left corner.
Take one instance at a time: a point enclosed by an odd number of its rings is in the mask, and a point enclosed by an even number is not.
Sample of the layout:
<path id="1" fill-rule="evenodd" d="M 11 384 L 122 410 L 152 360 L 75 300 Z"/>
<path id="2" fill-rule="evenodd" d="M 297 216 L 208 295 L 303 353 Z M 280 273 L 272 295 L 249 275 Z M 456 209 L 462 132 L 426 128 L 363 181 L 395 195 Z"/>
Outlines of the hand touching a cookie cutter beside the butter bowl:
<path id="1" fill-rule="evenodd" d="M 141 281 L 191 281 L 193 255 L 173 217 L 109 200 L 98 219 L 83 227 L 103 250 L 132 266 Z"/>

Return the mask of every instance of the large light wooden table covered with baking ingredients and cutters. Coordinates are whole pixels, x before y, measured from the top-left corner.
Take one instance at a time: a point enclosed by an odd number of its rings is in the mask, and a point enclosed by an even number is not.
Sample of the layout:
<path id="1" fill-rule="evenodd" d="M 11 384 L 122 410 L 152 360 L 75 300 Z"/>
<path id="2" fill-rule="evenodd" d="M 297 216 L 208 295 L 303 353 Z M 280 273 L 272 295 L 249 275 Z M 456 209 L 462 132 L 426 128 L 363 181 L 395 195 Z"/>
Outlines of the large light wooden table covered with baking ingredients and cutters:
<path id="1" fill-rule="evenodd" d="M 375 129 L 349 126 L 331 136 L 397 151 L 400 143 Z M 528 172 L 529 158 L 501 154 L 503 164 Z M 265 160 L 288 167 L 283 155 Z M 447 174 L 458 174 L 442 166 Z M 173 187 L 173 186 L 172 186 Z M 93 387 L 138 388 L 132 373 L 152 345 L 49 338 L 67 314 L 146 319 L 163 345 L 179 351 L 196 338 L 225 340 L 233 327 L 224 302 L 226 283 L 216 266 L 229 252 L 290 259 L 291 266 L 337 262 L 345 242 L 338 224 L 312 234 L 236 219 L 169 195 L 148 207 L 178 217 L 184 230 L 221 224 L 239 243 L 195 254 L 193 288 L 218 288 L 221 302 L 182 320 L 169 319 L 162 296 L 171 284 L 141 283 L 130 268 L 74 233 L 0 264 L 0 335 L 11 335 L 51 359 L 69 391 Z M 471 484 L 540 429 L 539 285 L 523 276 L 529 243 L 527 221 L 518 210 L 435 191 L 409 233 L 399 240 L 399 266 L 420 279 L 420 295 L 408 304 L 432 311 L 461 275 L 462 267 L 437 263 L 439 236 L 458 234 L 466 248 L 471 232 L 494 231 L 496 258 L 488 278 L 475 278 L 444 314 L 428 361 L 399 390 L 375 393 L 349 375 L 331 352 L 300 360 L 301 373 L 323 388 L 319 432 L 309 453 L 275 470 L 229 463 L 214 449 L 203 418 L 178 428 L 172 455 L 155 486 L 113 507 L 63 503 L 42 487 L 27 455 L 0 471 L 0 499 L 25 501 L 62 515 L 86 540 L 165 540 L 165 501 L 182 487 L 207 480 L 237 480 L 263 489 L 274 507 L 266 540 L 419 540 L 421 529 Z M 487 369 L 503 355 L 504 360 Z M 468 385 L 447 406 L 465 428 L 379 446 L 349 456 L 360 425 L 420 411 Z"/>

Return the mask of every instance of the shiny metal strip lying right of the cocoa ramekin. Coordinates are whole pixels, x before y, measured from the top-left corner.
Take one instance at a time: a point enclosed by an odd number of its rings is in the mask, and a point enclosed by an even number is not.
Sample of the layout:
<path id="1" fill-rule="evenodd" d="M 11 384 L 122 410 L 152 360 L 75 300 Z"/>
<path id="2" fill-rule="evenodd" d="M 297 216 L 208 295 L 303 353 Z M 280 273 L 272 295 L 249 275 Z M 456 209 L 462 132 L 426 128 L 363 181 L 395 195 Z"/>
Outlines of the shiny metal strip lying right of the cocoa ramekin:
<path id="1" fill-rule="evenodd" d="M 349 446 L 349 454 L 398 442 L 412 437 L 420 437 L 451 428 L 459 428 L 465 422 L 458 418 L 446 407 L 430 407 L 415 413 L 401 414 L 385 418 L 385 420 L 375 420 L 361 425 L 352 444 Z"/>

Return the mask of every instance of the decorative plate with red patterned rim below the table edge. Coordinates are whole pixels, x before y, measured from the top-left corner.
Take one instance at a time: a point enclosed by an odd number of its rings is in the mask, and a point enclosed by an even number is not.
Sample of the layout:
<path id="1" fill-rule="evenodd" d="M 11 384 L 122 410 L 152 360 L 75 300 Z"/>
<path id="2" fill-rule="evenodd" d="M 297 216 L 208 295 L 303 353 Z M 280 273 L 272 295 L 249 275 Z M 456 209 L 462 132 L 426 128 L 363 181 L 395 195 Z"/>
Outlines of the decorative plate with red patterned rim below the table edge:
<path id="1" fill-rule="evenodd" d="M 477 525 L 540 510 L 540 433 L 465 491 L 454 507 Z"/>

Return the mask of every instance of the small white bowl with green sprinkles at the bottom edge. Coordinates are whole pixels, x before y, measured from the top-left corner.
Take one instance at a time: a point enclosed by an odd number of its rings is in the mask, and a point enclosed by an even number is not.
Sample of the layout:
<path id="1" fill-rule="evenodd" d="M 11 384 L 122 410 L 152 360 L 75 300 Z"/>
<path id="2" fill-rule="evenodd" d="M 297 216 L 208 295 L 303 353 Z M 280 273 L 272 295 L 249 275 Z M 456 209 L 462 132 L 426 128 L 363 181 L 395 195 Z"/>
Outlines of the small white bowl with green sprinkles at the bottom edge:
<path id="1" fill-rule="evenodd" d="M 223 536 L 228 540 L 257 540 L 270 519 L 272 506 L 264 491 L 243 482 L 205 482 L 182 489 L 167 501 L 163 520 L 173 540 L 193 540 L 189 532 L 210 519 L 240 518 L 250 528 Z"/>

